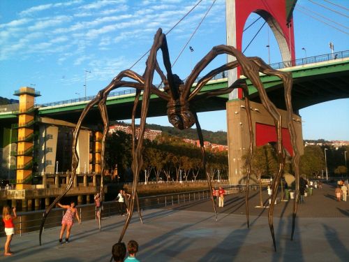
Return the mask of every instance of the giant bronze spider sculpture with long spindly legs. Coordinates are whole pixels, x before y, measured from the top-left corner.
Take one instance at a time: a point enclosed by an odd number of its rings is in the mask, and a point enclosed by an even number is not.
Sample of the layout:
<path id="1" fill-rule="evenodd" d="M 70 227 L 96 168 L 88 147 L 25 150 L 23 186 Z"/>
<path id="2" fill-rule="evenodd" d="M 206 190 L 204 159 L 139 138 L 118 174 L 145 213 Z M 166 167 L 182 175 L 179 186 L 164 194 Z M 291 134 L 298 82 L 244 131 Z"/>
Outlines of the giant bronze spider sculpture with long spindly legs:
<path id="1" fill-rule="evenodd" d="M 163 71 L 161 71 L 161 68 L 158 65 L 158 61 L 156 59 L 156 55 L 159 49 L 161 49 L 161 52 L 163 54 L 163 64 L 167 72 L 167 78 L 163 73 Z M 220 66 L 219 68 L 216 68 L 210 71 L 209 73 L 207 73 L 207 75 L 205 75 L 203 78 L 201 78 L 198 81 L 197 85 L 194 88 L 192 88 L 193 83 L 198 78 L 198 75 L 200 74 L 200 72 L 202 72 L 202 70 L 206 68 L 206 66 L 208 66 L 209 63 L 216 56 L 218 56 L 218 54 L 230 54 L 236 57 L 236 61 L 232 61 L 230 63 L 224 64 L 223 66 Z M 276 177 L 272 184 L 272 188 L 273 188 L 272 203 L 270 205 L 269 215 L 268 215 L 269 227 L 272 234 L 275 250 L 276 250 L 276 242 L 274 237 L 274 226 L 273 226 L 274 202 L 276 199 L 279 182 L 281 180 L 281 175 L 283 173 L 283 167 L 285 163 L 285 154 L 283 152 L 282 138 L 281 138 L 281 115 L 279 114 L 278 110 L 276 110 L 275 105 L 269 100 L 267 93 L 265 92 L 265 89 L 260 80 L 259 73 L 264 73 L 266 75 L 275 75 L 276 77 L 281 78 L 284 85 L 285 101 L 288 109 L 288 129 L 290 130 L 290 135 L 292 140 L 292 147 L 294 151 L 293 164 L 295 166 L 296 178 L 297 178 L 296 179 L 297 194 L 296 194 L 296 201 L 295 201 L 294 211 L 293 211 L 293 224 L 292 224 L 292 234 L 291 234 L 291 239 L 292 239 L 293 233 L 294 233 L 294 226 L 295 226 L 295 215 L 297 212 L 297 199 L 299 196 L 299 172 L 298 172 L 299 151 L 297 150 L 295 127 L 293 126 L 293 122 L 292 122 L 292 104 L 291 104 L 292 75 L 290 73 L 274 70 L 273 68 L 265 64 L 265 62 L 258 57 L 245 57 L 244 54 L 242 54 L 242 52 L 233 48 L 232 46 L 218 45 L 212 48 L 212 50 L 208 52 L 206 56 L 201 61 L 198 62 L 198 64 L 196 64 L 191 75 L 188 76 L 185 82 L 182 82 L 177 75 L 172 73 L 171 64 L 170 64 L 170 55 L 168 52 L 166 37 L 165 37 L 165 34 L 162 33 L 162 30 L 158 29 L 158 31 L 156 32 L 156 35 L 154 36 L 154 43 L 151 47 L 150 54 L 147 59 L 144 74 L 139 75 L 138 73 L 135 73 L 134 71 L 131 71 L 131 70 L 121 71 L 121 73 L 119 73 L 119 75 L 117 75 L 117 77 L 115 77 L 112 80 L 112 82 L 110 82 L 110 84 L 107 85 L 107 87 L 105 87 L 100 92 L 98 92 L 96 98 L 91 100 L 87 104 L 86 108 L 84 108 L 84 110 L 82 111 L 82 114 L 80 115 L 80 119 L 78 120 L 75 130 L 73 132 L 72 175 L 70 177 L 70 181 L 64 193 L 61 194 L 61 196 L 58 196 L 45 211 L 45 214 L 43 216 L 43 221 L 40 226 L 40 234 L 39 234 L 40 245 L 41 245 L 41 234 L 43 231 L 43 226 L 45 224 L 45 219 L 47 215 L 49 214 L 50 210 L 52 210 L 52 208 L 54 208 L 54 206 L 61 200 L 61 198 L 65 196 L 65 194 L 68 192 L 70 187 L 72 187 L 73 185 L 73 180 L 74 180 L 76 169 L 79 163 L 79 157 L 77 155 L 77 150 L 76 150 L 77 138 L 79 136 L 82 121 L 84 120 L 84 117 L 86 117 L 87 112 L 91 110 L 91 108 L 93 108 L 95 105 L 98 106 L 98 110 L 101 112 L 101 118 L 104 124 L 102 150 L 101 150 L 101 157 L 102 157 L 101 174 L 103 175 L 105 171 L 105 163 L 104 163 L 105 138 L 107 136 L 107 132 L 109 129 L 107 107 L 106 107 L 107 96 L 112 90 L 117 89 L 119 87 L 133 87 L 136 89 L 135 101 L 134 101 L 133 111 L 132 111 L 133 187 L 132 187 L 131 201 L 130 201 L 130 207 L 129 207 L 130 212 L 128 214 L 128 217 L 124 224 L 124 228 L 122 229 L 119 237 L 119 242 L 121 242 L 121 240 L 124 238 L 124 234 L 126 233 L 126 229 L 128 228 L 128 224 L 131 221 L 135 201 L 138 204 L 137 186 L 138 186 L 138 178 L 139 178 L 140 171 L 142 168 L 142 163 L 143 163 L 141 152 L 142 152 L 142 143 L 143 143 L 143 135 L 144 135 L 144 126 L 145 126 L 147 112 L 149 108 L 150 95 L 156 94 L 161 99 L 168 101 L 168 105 L 167 105 L 168 119 L 169 119 L 169 122 L 174 127 L 177 127 L 178 129 L 188 129 L 191 126 L 193 126 L 193 124 L 196 125 L 198 130 L 198 137 L 200 140 L 200 148 L 202 152 L 203 169 L 204 169 L 204 172 L 206 173 L 205 149 L 203 145 L 203 138 L 202 138 L 202 131 L 200 128 L 200 123 L 198 121 L 198 116 L 195 112 L 195 101 L 198 101 L 199 99 L 207 99 L 210 96 L 228 94 L 232 92 L 232 89 L 240 87 L 244 91 L 246 108 L 250 108 L 249 100 L 248 100 L 248 89 L 247 89 L 245 80 L 241 80 L 241 79 L 237 80 L 230 87 L 227 87 L 225 89 L 219 89 L 212 92 L 204 92 L 203 94 L 198 94 L 202 89 L 202 87 L 204 87 L 204 85 L 209 80 L 211 80 L 211 78 L 213 78 L 214 75 L 232 68 L 236 68 L 237 66 L 241 67 L 242 73 L 246 76 L 246 78 L 248 78 L 252 82 L 254 87 L 258 89 L 262 104 L 265 106 L 269 114 L 273 117 L 274 123 L 276 126 L 279 171 L 276 174 Z M 163 92 L 160 89 L 156 88 L 156 86 L 154 86 L 152 83 L 155 71 L 158 73 L 158 75 L 160 75 L 161 80 L 164 84 Z M 132 81 L 124 80 L 124 78 L 129 78 Z M 141 92 L 143 93 L 142 93 L 142 108 L 140 112 L 140 133 L 139 133 L 138 140 L 136 140 L 135 139 L 135 113 L 138 107 L 138 103 L 140 101 Z M 246 189 L 247 190 L 246 190 L 246 198 L 245 198 L 246 219 L 247 219 L 247 225 L 249 226 L 248 184 L 249 184 L 249 177 L 251 173 L 251 156 L 252 156 L 252 148 L 253 148 L 253 131 L 252 130 L 253 129 L 251 124 L 252 123 L 251 112 L 250 110 L 246 110 L 246 112 L 248 117 L 248 128 L 250 133 L 250 145 L 248 150 L 248 158 L 246 159 L 246 168 L 247 168 Z M 209 189 L 211 190 L 211 180 L 209 175 L 207 175 L 207 181 L 208 181 Z M 101 197 L 103 199 L 103 177 L 101 179 Z M 214 212 L 217 219 L 216 206 L 214 205 L 213 199 L 212 199 L 212 205 L 213 205 Z M 138 204 L 138 213 L 140 214 L 139 204 Z M 140 220 L 142 221 L 141 214 L 140 214 Z M 101 228 L 101 216 L 100 216 L 99 225 Z"/>

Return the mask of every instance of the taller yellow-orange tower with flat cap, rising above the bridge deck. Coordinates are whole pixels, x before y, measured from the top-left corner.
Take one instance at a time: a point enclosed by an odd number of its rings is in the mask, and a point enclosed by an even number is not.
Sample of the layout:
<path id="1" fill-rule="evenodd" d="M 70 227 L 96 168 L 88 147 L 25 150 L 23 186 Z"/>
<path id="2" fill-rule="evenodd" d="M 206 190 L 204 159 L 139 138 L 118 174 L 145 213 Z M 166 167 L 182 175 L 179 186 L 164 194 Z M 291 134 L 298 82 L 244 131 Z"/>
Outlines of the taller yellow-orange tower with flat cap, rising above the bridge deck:
<path id="1" fill-rule="evenodd" d="M 18 112 L 18 142 L 17 142 L 17 166 L 16 189 L 27 189 L 31 184 L 33 170 L 34 151 L 34 115 L 35 98 L 40 96 L 31 87 L 21 87 L 15 91 L 15 96 L 20 96 L 20 108 Z"/>

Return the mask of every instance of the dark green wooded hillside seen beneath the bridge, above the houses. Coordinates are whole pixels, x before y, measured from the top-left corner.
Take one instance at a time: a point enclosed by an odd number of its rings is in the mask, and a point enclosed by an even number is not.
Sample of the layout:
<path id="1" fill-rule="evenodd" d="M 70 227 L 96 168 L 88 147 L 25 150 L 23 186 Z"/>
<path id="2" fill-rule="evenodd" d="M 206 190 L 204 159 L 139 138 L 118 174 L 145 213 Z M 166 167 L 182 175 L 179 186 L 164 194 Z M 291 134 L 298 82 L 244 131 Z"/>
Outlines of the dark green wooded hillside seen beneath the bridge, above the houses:
<path id="1" fill-rule="evenodd" d="M 110 122 L 110 125 L 112 124 L 123 124 L 123 125 L 129 125 L 124 122 Z M 175 129 L 172 126 L 160 126 L 158 124 L 147 124 L 147 129 L 153 129 L 153 130 L 160 130 L 163 131 L 163 133 L 168 133 L 171 136 L 177 136 L 179 138 L 189 138 L 193 140 L 197 140 L 198 138 L 198 132 L 196 129 L 185 129 L 185 130 L 179 130 Z M 215 143 L 218 145 L 228 145 L 227 142 L 227 132 L 223 131 L 207 131 L 202 130 L 202 136 L 204 136 L 205 141 L 209 141 L 211 143 Z"/>

